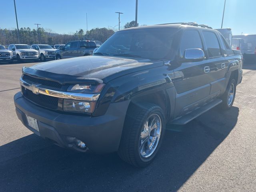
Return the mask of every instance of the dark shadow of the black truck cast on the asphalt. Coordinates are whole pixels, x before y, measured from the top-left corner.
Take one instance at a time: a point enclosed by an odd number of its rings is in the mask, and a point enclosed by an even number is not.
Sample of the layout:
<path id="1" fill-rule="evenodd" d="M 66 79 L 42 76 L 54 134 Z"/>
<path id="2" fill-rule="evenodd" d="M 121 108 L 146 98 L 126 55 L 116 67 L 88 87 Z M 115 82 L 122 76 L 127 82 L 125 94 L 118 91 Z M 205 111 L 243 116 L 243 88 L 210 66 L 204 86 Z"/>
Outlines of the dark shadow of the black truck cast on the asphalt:
<path id="1" fill-rule="evenodd" d="M 185 126 L 168 125 L 147 168 L 134 168 L 116 153 L 65 150 L 32 134 L 0 146 L 1 190 L 177 191 L 228 136 L 238 114 L 237 107 L 214 108 Z"/>

